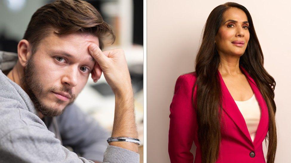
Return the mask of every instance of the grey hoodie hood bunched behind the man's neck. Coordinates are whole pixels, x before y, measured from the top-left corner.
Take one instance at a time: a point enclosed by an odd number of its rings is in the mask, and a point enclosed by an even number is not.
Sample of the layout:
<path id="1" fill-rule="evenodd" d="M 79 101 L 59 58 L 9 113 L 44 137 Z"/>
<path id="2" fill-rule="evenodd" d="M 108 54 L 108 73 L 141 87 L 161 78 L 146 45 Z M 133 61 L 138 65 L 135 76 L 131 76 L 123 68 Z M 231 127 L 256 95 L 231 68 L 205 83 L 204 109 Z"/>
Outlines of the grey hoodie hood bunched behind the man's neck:
<path id="1" fill-rule="evenodd" d="M 7 51 L 0 51 L 0 70 L 6 71 L 14 67 L 18 60 L 18 54 Z"/>

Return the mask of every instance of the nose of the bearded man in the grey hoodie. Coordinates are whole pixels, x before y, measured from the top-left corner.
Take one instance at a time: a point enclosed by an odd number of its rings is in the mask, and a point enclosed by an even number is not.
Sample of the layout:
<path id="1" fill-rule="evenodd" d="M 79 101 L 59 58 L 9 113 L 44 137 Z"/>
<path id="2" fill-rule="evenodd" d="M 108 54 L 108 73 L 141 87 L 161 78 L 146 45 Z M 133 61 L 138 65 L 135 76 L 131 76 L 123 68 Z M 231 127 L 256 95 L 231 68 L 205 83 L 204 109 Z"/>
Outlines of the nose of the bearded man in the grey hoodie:
<path id="1" fill-rule="evenodd" d="M 72 66 L 65 70 L 61 82 L 65 85 L 75 87 L 78 84 L 78 68 Z"/>

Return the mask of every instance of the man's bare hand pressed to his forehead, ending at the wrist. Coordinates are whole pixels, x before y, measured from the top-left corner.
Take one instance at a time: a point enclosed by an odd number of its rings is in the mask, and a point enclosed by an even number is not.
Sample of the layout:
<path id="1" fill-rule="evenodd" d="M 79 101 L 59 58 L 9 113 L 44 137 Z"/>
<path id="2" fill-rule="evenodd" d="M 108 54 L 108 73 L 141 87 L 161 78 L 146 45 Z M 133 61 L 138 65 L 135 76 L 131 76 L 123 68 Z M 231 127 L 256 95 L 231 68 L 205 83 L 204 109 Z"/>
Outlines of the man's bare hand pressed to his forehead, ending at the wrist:
<path id="1" fill-rule="evenodd" d="M 127 62 L 122 49 L 101 51 L 94 43 L 89 46 L 89 51 L 96 63 L 92 71 L 94 82 L 100 79 L 102 72 L 114 94 L 122 94 L 132 89 Z"/>

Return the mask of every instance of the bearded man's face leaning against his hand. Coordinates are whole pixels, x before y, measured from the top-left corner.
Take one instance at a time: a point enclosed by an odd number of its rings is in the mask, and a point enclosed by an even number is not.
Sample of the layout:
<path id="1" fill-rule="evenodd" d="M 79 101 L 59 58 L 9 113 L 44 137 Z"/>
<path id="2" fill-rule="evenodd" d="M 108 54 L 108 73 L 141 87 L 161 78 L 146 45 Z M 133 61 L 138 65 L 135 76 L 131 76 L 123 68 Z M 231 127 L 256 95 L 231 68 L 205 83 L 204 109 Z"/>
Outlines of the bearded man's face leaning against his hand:
<path id="1" fill-rule="evenodd" d="M 28 59 L 22 82 L 43 115 L 60 115 L 84 88 L 95 65 L 90 43 L 99 45 L 98 37 L 51 34 Z"/>

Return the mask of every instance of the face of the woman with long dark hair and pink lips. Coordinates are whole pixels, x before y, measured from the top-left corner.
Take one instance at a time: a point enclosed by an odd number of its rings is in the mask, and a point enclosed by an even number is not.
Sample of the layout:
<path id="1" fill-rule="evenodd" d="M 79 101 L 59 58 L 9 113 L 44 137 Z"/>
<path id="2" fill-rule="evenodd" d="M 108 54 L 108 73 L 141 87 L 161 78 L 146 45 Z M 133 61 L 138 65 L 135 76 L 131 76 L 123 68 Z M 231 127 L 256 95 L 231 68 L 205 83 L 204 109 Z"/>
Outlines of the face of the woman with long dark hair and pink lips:
<path id="1" fill-rule="evenodd" d="M 247 48 L 250 39 L 249 23 L 243 10 L 232 7 L 224 12 L 222 24 L 215 36 L 218 54 L 240 57 Z M 243 44 L 235 44 L 241 41 Z"/>

